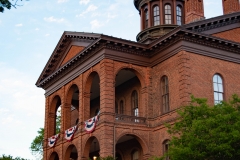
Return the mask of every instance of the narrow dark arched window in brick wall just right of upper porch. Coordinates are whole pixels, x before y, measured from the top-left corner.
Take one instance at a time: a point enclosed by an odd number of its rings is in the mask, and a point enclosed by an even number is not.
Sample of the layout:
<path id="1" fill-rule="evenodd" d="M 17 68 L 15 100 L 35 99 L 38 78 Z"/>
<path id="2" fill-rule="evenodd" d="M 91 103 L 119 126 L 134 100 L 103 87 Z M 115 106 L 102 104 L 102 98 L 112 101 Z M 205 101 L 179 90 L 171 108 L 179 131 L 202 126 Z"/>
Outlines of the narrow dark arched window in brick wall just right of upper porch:
<path id="1" fill-rule="evenodd" d="M 167 76 L 162 77 L 161 88 L 162 88 L 162 111 L 163 113 L 166 113 L 169 111 L 169 90 Z"/>

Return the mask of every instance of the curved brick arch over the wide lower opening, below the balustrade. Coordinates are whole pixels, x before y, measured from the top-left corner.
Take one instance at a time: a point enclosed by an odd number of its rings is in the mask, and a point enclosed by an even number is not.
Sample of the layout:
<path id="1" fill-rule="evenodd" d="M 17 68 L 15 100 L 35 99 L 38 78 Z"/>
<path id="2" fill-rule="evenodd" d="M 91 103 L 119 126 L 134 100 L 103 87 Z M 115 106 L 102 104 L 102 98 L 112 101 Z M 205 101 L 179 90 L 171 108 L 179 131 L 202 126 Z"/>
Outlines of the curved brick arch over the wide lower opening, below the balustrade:
<path id="1" fill-rule="evenodd" d="M 125 135 L 131 135 L 131 136 L 133 136 L 134 138 L 137 139 L 137 141 L 140 143 L 140 145 L 142 147 L 143 155 L 148 153 L 148 145 L 147 145 L 146 141 L 143 138 L 141 138 L 141 135 L 138 135 L 136 133 L 131 133 L 131 132 L 121 133 L 119 136 L 117 136 L 116 142 L 118 142 L 118 140 Z"/>

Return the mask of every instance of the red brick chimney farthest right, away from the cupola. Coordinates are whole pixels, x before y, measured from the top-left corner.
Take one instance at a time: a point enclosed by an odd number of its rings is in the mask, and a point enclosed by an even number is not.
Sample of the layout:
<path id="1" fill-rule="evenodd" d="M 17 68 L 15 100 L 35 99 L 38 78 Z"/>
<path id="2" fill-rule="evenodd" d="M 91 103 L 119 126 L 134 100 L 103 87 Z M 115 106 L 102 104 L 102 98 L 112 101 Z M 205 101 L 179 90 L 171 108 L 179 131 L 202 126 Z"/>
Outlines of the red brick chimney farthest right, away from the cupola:
<path id="1" fill-rule="evenodd" d="M 222 0 L 223 3 L 223 14 L 229 14 L 240 11 L 239 0 Z"/>

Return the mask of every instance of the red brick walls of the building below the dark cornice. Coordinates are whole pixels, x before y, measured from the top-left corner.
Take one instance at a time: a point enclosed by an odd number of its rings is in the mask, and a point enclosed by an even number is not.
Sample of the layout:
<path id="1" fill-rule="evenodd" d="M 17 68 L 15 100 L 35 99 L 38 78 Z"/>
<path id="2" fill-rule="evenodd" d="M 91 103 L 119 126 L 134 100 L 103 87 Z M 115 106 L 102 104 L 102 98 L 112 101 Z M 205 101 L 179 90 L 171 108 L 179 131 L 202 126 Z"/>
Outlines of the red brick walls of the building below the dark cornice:
<path id="1" fill-rule="evenodd" d="M 124 135 L 133 135 L 136 137 L 140 147 L 142 147 L 141 159 L 146 160 L 151 155 L 162 155 L 162 143 L 164 140 L 170 139 L 164 122 L 173 122 L 175 120 L 177 117 L 175 109 L 188 103 L 190 94 L 196 97 L 208 98 L 209 103 L 213 104 L 212 77 L 215 73 L 220 74 L 224 80 L 225 100 L 229 99 L 233 93 L 240 95 L 240 84 L 238 82 L 240 79 L 239 67 L 239 64 L 236 63 L 185 51 L 179 52 L 153 68 L 104 59 L 46 98 L 45 139 L 52 136 L 50 135 L 50 130 L 53 127 L 53 123 L 51 122 L 50 111 L 52 110 L 52 100 L 56 95 L 60 96 L 62 102 L 62 131 L 67 129 L 68 125 L 66 121 L 68 119 L 76 118 L 73 114 L 72 116 L 71 114 L 66 114 L 70 106 L 66 99 L 70 92 L 69 88 L 72 85 L 77 85 L 79 89 L 79 121 L 83 122 L 90 116 L 91 77 L 98 73 L 101 91 L 101 117 L 96 131 L 92 136 L 96 136 L 99 141 L 100 155 L 108 156 L 113 153 L 114 124 L 116 125 L 116 140 Z M 116 75 L 123 68 L 133 71 L 137 78 L 133 78 L 115 88 Z M 171 111 L 163 114 L 161 110 L 160 79 L 164 75 L 168 76 L 169 80 Z M 149 118 L 149 120 L 145 124 L 115 123 L 115 101 L 119 103 L 122 98 L 125 99 L 125 105 L 130 110 L 131 93 L 135 89 L 139 93 L 139 111 L 143 113 L 141 116 Z M 91 104 L 93 108 L 98 106 L 93 101 Z M 79 157 L 83 155 L 88 156 L 88 151 L 85 148 L 87 145 L 91 145 L 90 141 L 88 141 L 90 135 L 82 131 L 83 125 L 80 126 L 80 129 L 72 143 L 66 142 L 63 137 L 53 149 L 46 148 L 45 143 L 44 159 L 47 160 L 47 157 L 53 151 L 58 153 L 60 159 L 64 159 L 70 144 L 74 144 L 77 147 Z M 139 144 L 136 143 L 136 146 L 139 147 Z M 121 145 L 119 145 L 118 149 L 122 148 L 120 147 Z M 125 154 L 126 157 L 130 156 L 130 152 L 125 152 L 124 149 L 121 154 Z M 82 157 L 81 160 L 83 159 Z"/>

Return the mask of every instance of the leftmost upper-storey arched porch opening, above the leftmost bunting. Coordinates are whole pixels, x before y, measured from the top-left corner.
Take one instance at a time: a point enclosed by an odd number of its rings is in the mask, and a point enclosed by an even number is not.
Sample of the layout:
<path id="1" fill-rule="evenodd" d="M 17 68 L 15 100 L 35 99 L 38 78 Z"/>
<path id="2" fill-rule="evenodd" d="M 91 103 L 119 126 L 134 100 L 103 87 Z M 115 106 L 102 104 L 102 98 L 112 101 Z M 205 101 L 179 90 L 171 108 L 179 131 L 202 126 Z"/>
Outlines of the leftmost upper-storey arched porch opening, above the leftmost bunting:
<path id="1" fill-rule="evenodd" d="M 55 96 L 50 105 L 48 116 L 48 137 L 56 135 L 61 131 L 61 98 Z"/>

